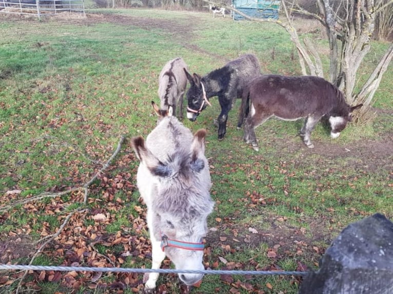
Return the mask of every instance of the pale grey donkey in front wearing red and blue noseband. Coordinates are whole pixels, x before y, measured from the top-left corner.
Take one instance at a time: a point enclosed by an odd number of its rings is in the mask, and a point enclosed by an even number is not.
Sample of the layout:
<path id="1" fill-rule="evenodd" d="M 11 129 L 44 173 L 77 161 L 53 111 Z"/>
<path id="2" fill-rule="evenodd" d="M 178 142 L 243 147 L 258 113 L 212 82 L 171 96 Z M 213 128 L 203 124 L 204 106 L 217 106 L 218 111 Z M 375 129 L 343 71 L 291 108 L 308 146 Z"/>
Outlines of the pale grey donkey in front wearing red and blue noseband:
<path id="1" fill-rule="evenodd" d="M 154 107 L 154 102 L 152 102 Z M 214 203 L 210 198 L 210 173 L 205 153 L 206 131 L 191 131 L 174 116 L 172 107 L 147 136 L 134 137 L 131 145 L 141 161 L 137 187 L 147 206 L 147 225 L 152 244 L 152 269 L 160 268 L 165 256 L 176 269 L 204 270 L 203 237 L 207 216 Z M 145 277 L 145 290 L 155 288 L 159 274 Z M 202 274 L 179 274 L 186 285 Z"/>

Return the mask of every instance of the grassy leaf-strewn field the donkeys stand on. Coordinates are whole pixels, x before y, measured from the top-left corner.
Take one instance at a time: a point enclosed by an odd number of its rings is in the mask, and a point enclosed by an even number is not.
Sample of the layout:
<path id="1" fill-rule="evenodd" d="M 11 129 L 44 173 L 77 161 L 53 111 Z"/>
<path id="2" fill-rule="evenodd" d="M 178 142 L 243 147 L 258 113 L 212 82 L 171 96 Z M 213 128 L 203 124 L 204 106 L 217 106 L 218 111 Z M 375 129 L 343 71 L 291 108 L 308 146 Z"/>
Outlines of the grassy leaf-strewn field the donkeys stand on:
<path id="1" fill-rule="evenodd" d="M 0 263 L 28 264 L 69 217 L 32 264 L 149 268 L 146 211 L 135 182 L 139 161 L 128 139 L 154 128 L 151 101 L 158 102 L 164 64 L 182 56 L 191 72 L 204 75 L 254 53 L 263 73 L 301 74 L 289 35 L 271 23 L 155 9 L 0 19 Z M 304 22 L 297 23 L 301 37 L 316 42 L 326 64 L 323 30 Z M 388 46 L 372 43 L 360 80 Z M 215 208 L 205 267 L 317 269 L 349 223 L 377 212 L 392 219 L 392 100 L 390 65 L 375 95 L 375 119 L 349 124 L 335 140 L 319 123 L 312 150 L 298 136 L 302 121 L 272 119 L 257 129 L 254 152 L 236 128 L 240 101 L 223 141 L 212 123 L 217 98 L 197 121 L 184 119 L 193 132 L 208 132 Z M 162 267 L 172 265 L 166 260 Z M 20 282 L 23 275 L 0 271 L 0 293 L 16 292 L 18 283 L 21 291 L 42 293 L 132 293 L 143 286 L 138 274 L 29 272 Z M 175 275 L 161 275 L 157 292 L 297 293 L 301 281 L 207 275 L 189 289 Z"/>

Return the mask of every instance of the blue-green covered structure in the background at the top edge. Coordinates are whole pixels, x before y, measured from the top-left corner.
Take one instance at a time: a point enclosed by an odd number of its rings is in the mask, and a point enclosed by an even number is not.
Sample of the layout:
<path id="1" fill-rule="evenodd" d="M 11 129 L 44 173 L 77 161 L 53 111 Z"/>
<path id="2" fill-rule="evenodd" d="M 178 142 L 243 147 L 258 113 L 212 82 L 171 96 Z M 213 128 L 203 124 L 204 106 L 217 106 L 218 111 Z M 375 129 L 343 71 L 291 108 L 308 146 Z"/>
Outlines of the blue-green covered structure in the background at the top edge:
<path id="1" fill-rule="evenodd" d="M 279 9 L 281 1 L 273 0 L 232 0 L 232 5 L 237 10 L 256 18 L 279 18 Z M 244 17 L 234 13 L 234 20 L 241 20 Z"/>

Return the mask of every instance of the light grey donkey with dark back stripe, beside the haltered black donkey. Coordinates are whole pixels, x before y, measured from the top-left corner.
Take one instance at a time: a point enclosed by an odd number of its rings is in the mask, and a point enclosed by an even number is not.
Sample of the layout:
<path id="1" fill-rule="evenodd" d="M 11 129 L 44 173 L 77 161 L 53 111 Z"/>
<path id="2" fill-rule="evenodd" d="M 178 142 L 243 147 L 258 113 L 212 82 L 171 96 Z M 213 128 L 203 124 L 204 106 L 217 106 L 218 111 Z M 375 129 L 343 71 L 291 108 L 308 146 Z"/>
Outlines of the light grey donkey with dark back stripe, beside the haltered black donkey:
<path id="1" fill-rule="evenodd" d="M 187 77 L 183 69 L 188 70 L 183 58 L 176 57 L 168 61 L 160 73 L 158 91 L 161 109 L 167 109 L 171 105 L 174 116 L 181 119 L 183 119 L 183 96 L 187 87 Z M 179 104 L 177 114 L 176 104 Z"/>

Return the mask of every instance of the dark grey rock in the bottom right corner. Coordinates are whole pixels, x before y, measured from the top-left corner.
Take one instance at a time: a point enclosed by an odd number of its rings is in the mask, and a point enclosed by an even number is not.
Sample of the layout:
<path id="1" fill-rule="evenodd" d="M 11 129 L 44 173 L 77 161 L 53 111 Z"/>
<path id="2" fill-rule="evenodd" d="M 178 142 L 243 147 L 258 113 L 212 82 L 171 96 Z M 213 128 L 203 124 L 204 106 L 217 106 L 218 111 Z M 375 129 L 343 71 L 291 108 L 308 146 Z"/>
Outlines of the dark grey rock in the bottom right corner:
<path id="1" fill-rule="evenodd" d="M 320 269 L 299 294 L 392 294 L 393 223 L 375 214 L 349 224 L 332 242 Z"/>

